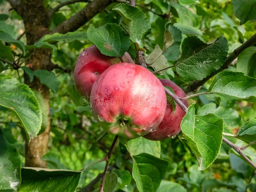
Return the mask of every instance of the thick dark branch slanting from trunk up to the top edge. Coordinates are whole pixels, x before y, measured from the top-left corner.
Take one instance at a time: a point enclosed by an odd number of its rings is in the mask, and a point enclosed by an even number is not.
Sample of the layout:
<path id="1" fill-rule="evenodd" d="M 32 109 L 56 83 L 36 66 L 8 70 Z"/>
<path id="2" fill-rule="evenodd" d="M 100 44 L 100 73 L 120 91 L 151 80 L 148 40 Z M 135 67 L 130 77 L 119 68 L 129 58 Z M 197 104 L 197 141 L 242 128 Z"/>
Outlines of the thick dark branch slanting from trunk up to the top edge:
<path id="1" fill-rule="evenodd" d="M 96 14 L 105 9 L 113 0 L 94 0 L 88 3 L 80 12 L 76 13 L 74 16 L 65 20 L 59 26 L 50 31 L 52 33 L 65 34 L 70 31 L 75 31 L 76 29 L 83 26 L 87 21 L 92 19 Z"/>

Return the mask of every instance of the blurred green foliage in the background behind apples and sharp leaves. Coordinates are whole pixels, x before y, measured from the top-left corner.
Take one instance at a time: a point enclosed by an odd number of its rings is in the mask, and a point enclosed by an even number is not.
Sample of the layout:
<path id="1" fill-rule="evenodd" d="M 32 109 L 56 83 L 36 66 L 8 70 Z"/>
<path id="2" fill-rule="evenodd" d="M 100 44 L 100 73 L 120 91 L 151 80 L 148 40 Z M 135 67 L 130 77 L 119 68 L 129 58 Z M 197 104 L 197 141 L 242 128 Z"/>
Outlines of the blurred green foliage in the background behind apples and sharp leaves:
<path id="1" fill-rule="evenodd" d="M 44 7 L 54 8 L 63 2 L 65 1 L 44 0 Z M 120 2 L 113 2 L 106 6 L 77 31 L 87 31 L 91 24 L 97 28 L 107 23 L 119 24 L 124 31 L 128 31 L 122 17 L 112 10 Z M 177 1 L 166 2 L 163 0 L 136 1 L 137 7 L 146 14 L 151 24 L 151 33 L 144 39 L 146 56 L 154 50 L 156 44 L 161 49 L 164 48 L 164 26 L 168 19 L 170 19 L 173 26 L 181 30 L 182 40 L 194 35 L 206 43 L 223 35 L 228 40 L 228 54 L 232 53 L 256 32 L 255 22 L 247 21 L 240 25 L 240 20 L 234 14 L 234 6 L 229 0 L 179 0 L 178 3 L 180 4 L 176 3 Z M 86 4 L 84 2 L 68 4 L 53 13 L 50 18 L 49 31 L 82 10 Z M 172 6 L 168 6 L 168 4 Z M 0 5 L 0 19 L 15 26 L 18 36 L 23 34 L 25 29 L 22 18 L 11 8 L 7 1 L 0 1 Z M 49 97 L 51 132 L 49 142 L 45 143 L 48 152 L 42 157 L 47 162 L 47 168 L 49 169 L 79 171 L 96 160 L 104 158 L 114 139 L 113 135 L 107 134 L 95 143 L 98 135 L 102 132 L 102 128 L 93 119 L 88 103 L 81 99 L 81 95 L 75 89 L 73 70 L 76 58 L 83 49 L 92 45 L 92 42 L 86 36 L 83 36 L 82 40 L 77 39 L 68 40 L 68 38 L 64 38 L 48 41 L 50 43 L 54 42 L 53 45 L 56 46 L 52 50 L 51 62 L 55 65 L 53 72 L 57 78 L 56 82 L 60 82 L 58 88 L 52 88 L 56 90 L 56 93 L 50 91 Z M 20 41 L 26 44 L 26 36 L 21 36 Z M 22 53 L 16 46 L 13 46 L 12 50 L 18 54 Z M 134 44 L 130 45 L 128 52 L 134 59 Z M 172 64 L 173 60 L 168 60 L 168 65 Z M 236 64 L 236 61 L 233 62 L 228 70 L 236 72 Z M 5 67 L 6 64 L 0 61 L 0 68 L 4 69 Z M 24 71 L 22 69 L 18 70 L 21 81 L 24 82 Z M 10 66 L 8 66 L 8 69 L 5 68 L 1 71 L 19 79 L 17 71 Z M 189 84 L 189 81 L 179 76 L 176 70 L 172 68 L 169 68 L 163 75 L 158 74 L 157 77 L 170 79 L 183 89 Z M 207 81 L 200 91 L 207 91 L 212 80 Z M 49 84 L 47 86 L 50 87 Z M 200 95 L 193 99 L 196 101 L 194 106 L 196 115 L 205 115 L 211 111 L 224 118 L 224 122 L 227 124 L 227 127 L 224 127 L 225 132 L 236 134 L 245 122 L 256 118 L 256 104 L 252 102 L 230 100 L 213 94 Z M 26 134 L 20 122 L 10 111 L 3 107 L 0 107 L 0 110 L 0 128 L 6 140 L 19 152 L 22 167 L 24 167 Z M 232 141 L 236 142 L 238 146 L 245 145 L 240 140 L 233 139 Z M 195 153 L 189 148 L 182 134 L 175 138 L 163 140 L 161 141 L 160 156 L 169 163 L 164 180 L 180 184 L 183 186 L 178 186 L 181 191 L 256 191 L 255 170 L 243 159 L 236 156 L 233 150 L 230 150 L 230 152 L 229 150 L 228 145 L 222 144 L 220 153 L 214 163 L 206 170 L 199 171 Z M 158 152 L 159 148 L 156 148 L 156 153 Z M 250 156 L 254 163 L 256 162 L 254 149 L 247 148 L 245 153 Z M 110 165 L 112 165 L 111 169 L 116 175 L 109 176 L 109 178 L 117 176 L 115 191 L 138 191 L 131 174 L 132 159 L 127 155 L 126 147 L 121 142 L 114 149 Z M 77 190 L 85 190 L 83 188 L 88 186 L 98 174 L 102 173 L 104 167 L 105 163 L 100 162 L 85 169 L 81 174 Z M 167 186 L 174 186 L 175 183 L 172 183 L 172 185 L 168 183 Z M 93 188 L 99 188 L 99 182 L 95 182 Z M 167 191 L 167 189 L 162 182 L 158 190 Z"/>

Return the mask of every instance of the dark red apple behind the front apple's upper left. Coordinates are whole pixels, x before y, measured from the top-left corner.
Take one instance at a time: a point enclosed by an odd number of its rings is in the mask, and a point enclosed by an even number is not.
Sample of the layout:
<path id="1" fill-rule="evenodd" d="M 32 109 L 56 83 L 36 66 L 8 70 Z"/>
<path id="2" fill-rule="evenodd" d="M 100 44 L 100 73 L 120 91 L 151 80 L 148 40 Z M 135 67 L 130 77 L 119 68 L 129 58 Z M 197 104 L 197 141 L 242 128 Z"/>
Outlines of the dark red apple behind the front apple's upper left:
<path id="1" fill-rule="evenodd" d="M 134 63 L 128 52 L 122 57 L 124 62 Z M 92 85 L 98 76 L 109 66 L 121 62 L 118 57 L 110 57 L 103 55 L 100 50 L 92 45 L 84 49 L 76 60 L 74 70 L 74 81 L 77 91 L 89 98 Z"/>

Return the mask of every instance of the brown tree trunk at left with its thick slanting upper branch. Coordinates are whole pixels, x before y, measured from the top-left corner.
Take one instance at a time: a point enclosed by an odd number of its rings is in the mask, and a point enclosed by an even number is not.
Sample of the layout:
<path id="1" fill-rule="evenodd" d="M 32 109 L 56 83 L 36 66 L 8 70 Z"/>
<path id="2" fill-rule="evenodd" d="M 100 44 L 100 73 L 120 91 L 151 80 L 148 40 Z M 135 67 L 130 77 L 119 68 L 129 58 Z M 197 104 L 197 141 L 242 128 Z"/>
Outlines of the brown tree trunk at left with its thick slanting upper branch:
<path id="1" fill-rule="evenodd" d="M 97 13 L 103 10 L 113 0 L 94 0 L 88 3 L 84 9 L 64 21 L 51 32 L 48 30 L 51 11 L 44 8 L 43 0 L 8 0 L 11 6 L 22 17 L 27 44 L 36 43 L 42 36 L 55 32 L 67 33 L 75 31 L 77 28 L 84 25 L 92 19 Z M 54 65 L 51 62 L 51 51 L 47 49 L 35 49 L 30 51 L 29 60 L 26 66 L 31 70 L 46 69 L 51 71 Z M 29 78 L 24 74 L 25 84 L 28 84 L 32 89 L 38 90 L 44 97 L 44 101 L 49 111 L 49 88 L 41 84 L 35 77 L 33 82 L 29 82 Z M 48 117 L 48 126 L 46 130 L 36 136 L 34 139 L 26 142 L 26 166 L 29 167 L 47 167 L 45 161 L 41 159 L 47 153 L 47 144 L 50 134 L 50 118 Z"/>

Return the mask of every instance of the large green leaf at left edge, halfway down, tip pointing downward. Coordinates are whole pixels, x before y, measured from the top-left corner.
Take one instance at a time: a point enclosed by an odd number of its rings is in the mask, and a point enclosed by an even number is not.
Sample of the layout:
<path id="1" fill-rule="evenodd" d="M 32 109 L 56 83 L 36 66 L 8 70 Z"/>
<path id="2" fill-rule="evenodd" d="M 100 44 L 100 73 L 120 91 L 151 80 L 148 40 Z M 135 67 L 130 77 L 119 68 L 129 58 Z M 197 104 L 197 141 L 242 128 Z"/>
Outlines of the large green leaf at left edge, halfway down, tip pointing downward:
<path id="1" fill-rule="evenodd" d="M 42 112 L 34 92 L 28 85 L 4 74 L 0 74 L 0 91 L 0 105 L 15 113 L 30 141 L 42 124 Z"/>

